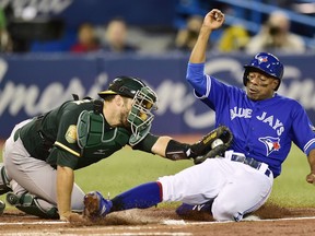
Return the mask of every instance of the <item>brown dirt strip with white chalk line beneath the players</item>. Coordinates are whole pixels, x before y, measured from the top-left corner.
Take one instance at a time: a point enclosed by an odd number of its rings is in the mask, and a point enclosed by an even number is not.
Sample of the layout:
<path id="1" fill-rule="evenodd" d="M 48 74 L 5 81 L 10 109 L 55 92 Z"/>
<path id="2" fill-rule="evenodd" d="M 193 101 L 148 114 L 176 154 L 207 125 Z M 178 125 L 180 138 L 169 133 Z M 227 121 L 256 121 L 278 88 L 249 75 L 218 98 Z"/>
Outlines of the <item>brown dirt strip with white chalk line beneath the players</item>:
<path id="1" fill-rule="evenodd" d="M 256 220 L 250 215 L 252 220 L 220 223 L 206 213 L 180 219 L 174 209 L 152 208 L 71 224 L 11 210 L 0 216 L 0 235 L 315 235 L 315 209 L 266 205 L 254 215 Z"/>

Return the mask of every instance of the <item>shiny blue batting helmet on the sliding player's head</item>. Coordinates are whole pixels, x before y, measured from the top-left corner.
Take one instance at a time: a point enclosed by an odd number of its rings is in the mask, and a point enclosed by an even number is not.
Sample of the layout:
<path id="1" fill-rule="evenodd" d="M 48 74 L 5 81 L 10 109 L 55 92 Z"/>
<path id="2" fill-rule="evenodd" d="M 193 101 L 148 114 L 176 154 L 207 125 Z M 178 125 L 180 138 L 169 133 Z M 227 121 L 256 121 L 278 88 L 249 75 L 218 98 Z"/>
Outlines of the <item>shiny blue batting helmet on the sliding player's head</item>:
<path id="1" fill-rule="evenodd" d="M 247 83 L 248 73 L 256 70 L 267 74 L 268 76 L 272 76 L 279 80 L 279 84 L 276 87 L 276 91 L 279 88 L 281 79 L 283 76 L 283 64 L 276 56 L 268 52 L 259 52 L 254 57 L 250 63 L 245 64 L 244 68 L 245 72 L 243 76 L 243 83 L 245 86 Z"/>

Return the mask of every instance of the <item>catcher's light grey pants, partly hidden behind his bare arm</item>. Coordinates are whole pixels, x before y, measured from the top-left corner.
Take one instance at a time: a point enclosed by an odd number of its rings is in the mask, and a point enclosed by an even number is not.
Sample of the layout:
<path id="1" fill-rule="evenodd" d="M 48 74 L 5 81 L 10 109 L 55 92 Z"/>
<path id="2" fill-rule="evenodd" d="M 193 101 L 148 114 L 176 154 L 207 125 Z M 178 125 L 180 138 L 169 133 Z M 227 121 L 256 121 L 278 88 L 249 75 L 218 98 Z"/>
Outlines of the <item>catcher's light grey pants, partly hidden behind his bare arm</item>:
<path id="1" fill-rule="evenodd" d="M 20 139 L 14 141 L 12 137 L 5 142 L 3 157 L 8 175 L 13 179 L 11 180 L 11 188 L 14 194 L 19 198 L 25 192 L 33 196 L 30 197 L 32 200 L 27 201 L 28 198 L 22 198 L 18 204 L 20 210 L 38 216 L 37 213 L 33 213 L 33 210 L 28 212 L 24 206 L 33 208 L 36 205 L 45 211 L 49 211 L 51 205 L 57 206 L 56 169 L 45 161 L 32 157 L 23 146 L 22 141 Z M 72 211 L 83 211 L 83 197 L 84 192 L 74 184 L 71 196 Z"/>

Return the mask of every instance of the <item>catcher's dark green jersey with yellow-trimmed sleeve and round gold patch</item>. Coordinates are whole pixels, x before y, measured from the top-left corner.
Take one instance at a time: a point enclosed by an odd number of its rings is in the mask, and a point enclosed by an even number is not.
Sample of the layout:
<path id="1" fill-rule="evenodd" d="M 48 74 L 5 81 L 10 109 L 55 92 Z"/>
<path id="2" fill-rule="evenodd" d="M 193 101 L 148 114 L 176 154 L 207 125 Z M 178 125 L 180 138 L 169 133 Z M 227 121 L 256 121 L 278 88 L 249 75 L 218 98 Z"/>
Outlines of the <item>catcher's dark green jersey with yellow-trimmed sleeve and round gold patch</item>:
<path id="1" fill-rule="evenodd" d="M 131 132 L 125 128 L 113 128 L 103 117 L 102 143 L 97 151 L 84 154 L 78 144 L 78 119 L 82 111 L 94 110 L 91 99 L 69 101 L 60 107 L 50 110 L 44 116 L 34 118 L 31 122 L 20 128 L 15 135 L 20 135 L 25 149 L 31 156 L 46 161 L 56 167 L 68 166 L 79 169 L 110 156 L 116 151 L 128 144 Z M 88 135 L 89 133 L 86 133 Z M 150 134 L 137 149 L 150 152 L 158 137 Z M 139 148 L 140 146 L 140 148 Z"/>

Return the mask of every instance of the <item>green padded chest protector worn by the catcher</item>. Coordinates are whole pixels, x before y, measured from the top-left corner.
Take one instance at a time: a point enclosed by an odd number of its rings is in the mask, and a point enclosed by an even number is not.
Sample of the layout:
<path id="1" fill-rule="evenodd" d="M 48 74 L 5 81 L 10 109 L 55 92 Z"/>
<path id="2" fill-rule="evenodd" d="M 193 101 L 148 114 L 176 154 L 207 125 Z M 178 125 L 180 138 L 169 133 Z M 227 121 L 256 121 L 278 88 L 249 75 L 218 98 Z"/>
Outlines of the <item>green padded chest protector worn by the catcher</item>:
<path id="1" fill-rule="evenodd" d="M 129 133 L 124 128 L 105 130 L 103 115 L 94 111 L 83 110 L 78 119 L 77 129 L 81 156 L 105 158 L 129 141 Z"/>

